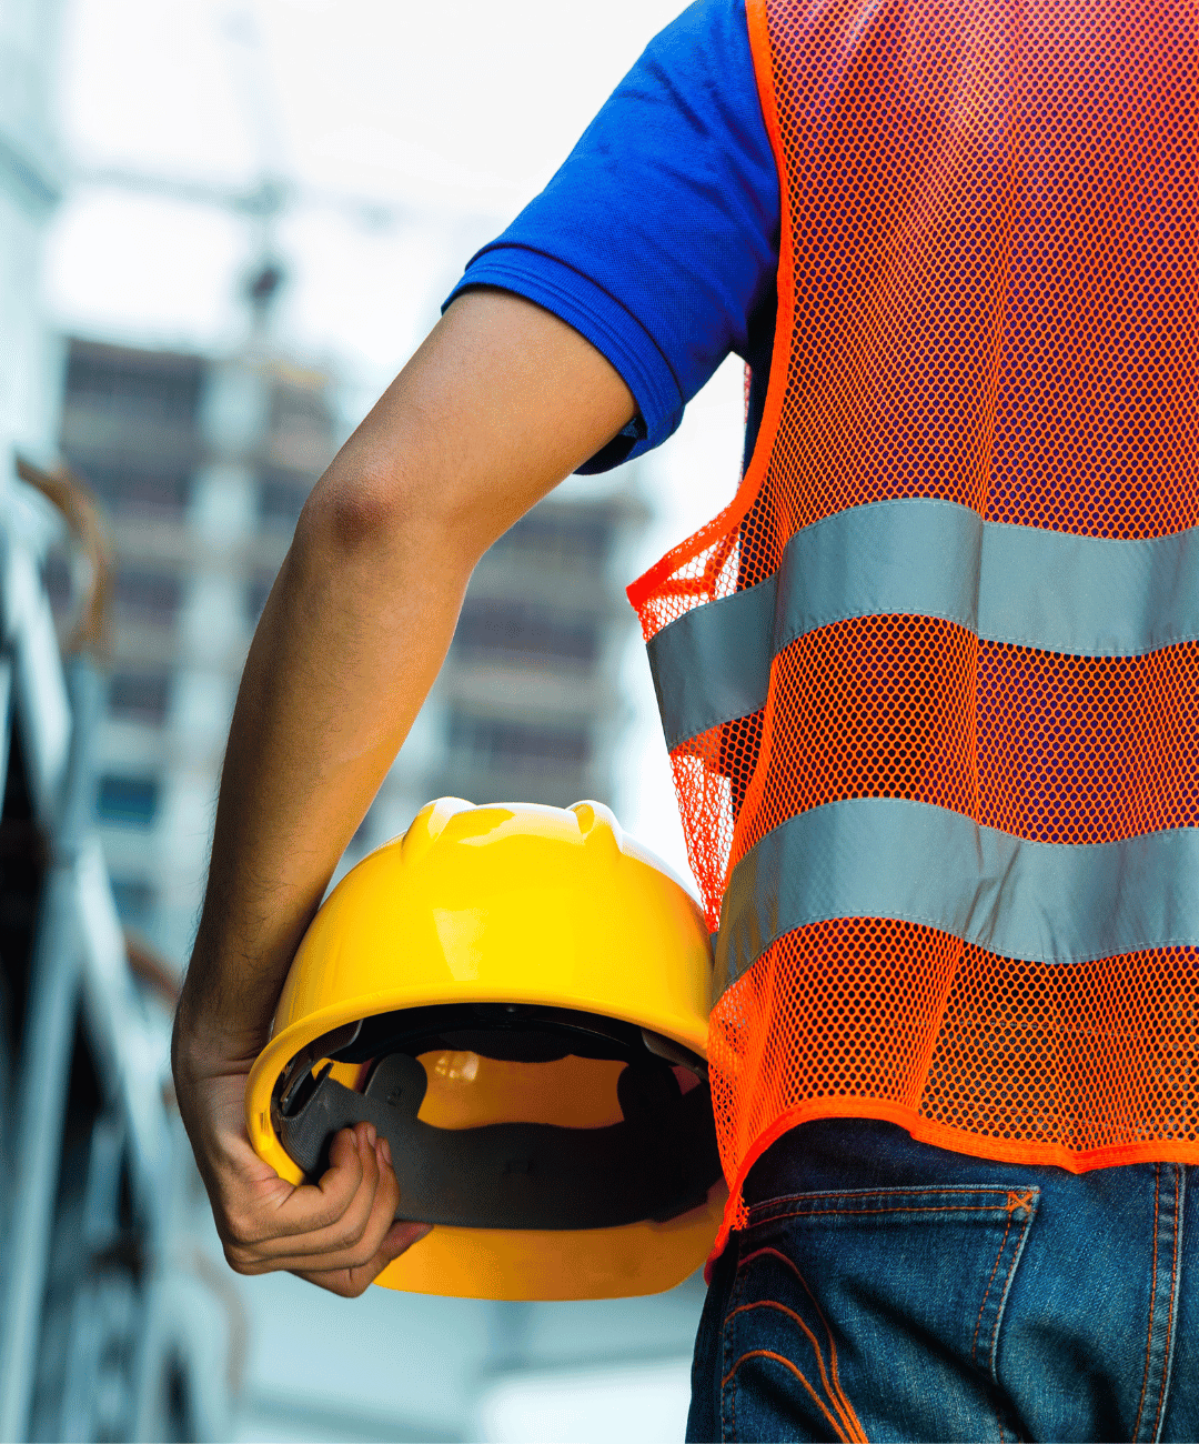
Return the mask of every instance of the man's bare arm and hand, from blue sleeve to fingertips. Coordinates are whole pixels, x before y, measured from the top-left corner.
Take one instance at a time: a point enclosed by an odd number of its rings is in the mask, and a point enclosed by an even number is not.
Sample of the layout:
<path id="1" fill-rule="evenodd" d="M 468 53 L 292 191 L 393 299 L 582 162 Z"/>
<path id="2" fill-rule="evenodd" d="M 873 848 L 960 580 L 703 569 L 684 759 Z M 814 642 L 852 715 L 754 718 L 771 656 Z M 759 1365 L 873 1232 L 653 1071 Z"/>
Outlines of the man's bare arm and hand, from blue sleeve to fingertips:
<path id="1" fill-rule="evenodd" d="M 391 1225 L 387 1145 L 339 1135 L 319 1186 L 250 1148 L 245 1076 L 346 843 L 449 650 L 482 553 L 633 416 L 548 312 L 470 292 L 309 498 L 238 695 L 175 1037 L 180 1109 L 229 1262 L 361 1292 L 420 1229 Z"/>

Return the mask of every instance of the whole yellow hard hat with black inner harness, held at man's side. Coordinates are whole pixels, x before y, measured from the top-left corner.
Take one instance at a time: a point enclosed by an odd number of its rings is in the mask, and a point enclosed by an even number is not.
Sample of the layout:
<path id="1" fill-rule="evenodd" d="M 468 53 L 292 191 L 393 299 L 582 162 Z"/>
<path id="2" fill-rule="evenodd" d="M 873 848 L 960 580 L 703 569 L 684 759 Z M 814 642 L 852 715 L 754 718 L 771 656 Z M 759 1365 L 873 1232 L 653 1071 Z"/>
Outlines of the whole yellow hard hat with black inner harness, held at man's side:
<path id="1" fill-rule="evenodd" d="M 250 1138 L 299 1183 L 338 1129 L 387 1136 L 397 1217 L 434 1225 L 387 1288 L 655 1294 L 704 1262 L 724 1201 L 710 991 L 698 907 L 606 807 L 443 797 L 313 918 Z"/>

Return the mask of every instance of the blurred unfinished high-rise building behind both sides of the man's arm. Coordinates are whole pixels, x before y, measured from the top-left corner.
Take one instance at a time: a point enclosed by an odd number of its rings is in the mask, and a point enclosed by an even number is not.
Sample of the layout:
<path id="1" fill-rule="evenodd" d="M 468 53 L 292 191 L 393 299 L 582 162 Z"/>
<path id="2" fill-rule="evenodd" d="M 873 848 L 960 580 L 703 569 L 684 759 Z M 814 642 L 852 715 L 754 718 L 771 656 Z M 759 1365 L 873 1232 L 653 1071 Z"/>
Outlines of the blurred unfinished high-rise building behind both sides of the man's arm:
<path id="1" fill-rule="evenodd" d="M 177 962 L 250 638 L 336 432 L 333 378 L 265 348 L 214 360 L 66 344 L 61 449 L 117 557 L 95 814 L 123 918 Z M 646 517 L 635 485 L 570 484 L 483 557 L 430 705 L 346 862 L 442 793 L 616 800 L 632 630 L 616 578 Z M 50 580 L 65 598 L 65 560 Z"/>

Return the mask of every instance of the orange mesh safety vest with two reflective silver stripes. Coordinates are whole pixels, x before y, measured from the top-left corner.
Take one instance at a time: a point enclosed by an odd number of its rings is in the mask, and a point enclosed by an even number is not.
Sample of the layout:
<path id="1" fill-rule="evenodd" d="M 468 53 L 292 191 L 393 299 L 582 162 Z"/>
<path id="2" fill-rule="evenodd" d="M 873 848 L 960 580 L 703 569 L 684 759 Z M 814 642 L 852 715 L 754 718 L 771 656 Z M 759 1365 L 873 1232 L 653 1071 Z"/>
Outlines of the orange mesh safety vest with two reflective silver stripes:
<path id="1" fill-rule="evenodd" d="M 742 1226 L 796 1123 L 1199 1161 L 1199 16 L 749 0 L 734 501 L 641 578 Z"/>

